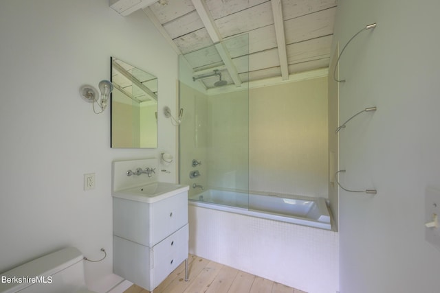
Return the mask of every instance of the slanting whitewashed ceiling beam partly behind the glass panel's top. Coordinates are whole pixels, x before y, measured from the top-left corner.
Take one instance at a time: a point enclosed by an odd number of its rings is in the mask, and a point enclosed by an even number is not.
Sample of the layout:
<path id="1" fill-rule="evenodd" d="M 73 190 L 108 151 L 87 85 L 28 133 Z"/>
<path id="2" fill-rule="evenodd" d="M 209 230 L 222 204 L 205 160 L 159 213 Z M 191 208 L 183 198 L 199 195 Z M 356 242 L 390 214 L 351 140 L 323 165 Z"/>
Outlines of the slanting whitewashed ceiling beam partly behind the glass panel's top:
<path id="1" fill-rule="evenodd" d="M 212 19 L 212 16 L 208 10 L 208 6 L 206 6 L 204 0 L 191 1 L 192 5 L 194 5 L 195 10 L 197 11 L 197 14 L 199 14 L 201 22 L 203 23 L 203 25 L 205 25 L 205 28 L 208 31 L 208 35 L 210 36 L 212 43 L 214 43 L 214 46 L 216 47 L 221 60 L 223 60 L 226 69 L 228 69 L 228 73 L 234 81 L 234 84 L 236 86 L 241 86 L 239 73 L 238 71 L 236 71 L 236 67 L 232 62 L 232 58 L 229 54 L 228 49 L 226 49 L 225 45 L 221 43 L 221 40 L 223 40 L 223 38 L 221 38 L 219 29 L 217 28 L 217 25 L 215 25 L 214 19 Z"/>

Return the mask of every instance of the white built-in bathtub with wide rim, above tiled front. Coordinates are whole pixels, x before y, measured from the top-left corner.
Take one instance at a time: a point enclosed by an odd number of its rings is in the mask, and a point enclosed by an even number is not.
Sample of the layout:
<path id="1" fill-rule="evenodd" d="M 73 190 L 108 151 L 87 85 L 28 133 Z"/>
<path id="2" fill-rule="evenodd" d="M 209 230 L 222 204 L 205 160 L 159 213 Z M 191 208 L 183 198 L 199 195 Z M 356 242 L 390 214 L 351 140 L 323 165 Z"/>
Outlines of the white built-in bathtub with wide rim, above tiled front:
<path id="1" fill-rule="evenodd" d="M 208 189 L 188 200 L 197 207 L 331 230 L 325 198 Z"/>

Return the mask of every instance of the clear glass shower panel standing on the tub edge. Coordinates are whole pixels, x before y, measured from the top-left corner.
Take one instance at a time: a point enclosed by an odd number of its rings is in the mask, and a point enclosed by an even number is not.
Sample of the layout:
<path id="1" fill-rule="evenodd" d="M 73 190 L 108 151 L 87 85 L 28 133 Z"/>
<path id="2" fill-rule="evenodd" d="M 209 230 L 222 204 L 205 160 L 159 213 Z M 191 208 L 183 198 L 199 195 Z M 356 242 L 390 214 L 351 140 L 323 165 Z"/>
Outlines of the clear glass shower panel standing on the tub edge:
<path id="1" fill-rule="evenodd" d="M 179 181 L 190 200 L 248 208 L 247 53 L 242 35 L 179 56 Z"/>

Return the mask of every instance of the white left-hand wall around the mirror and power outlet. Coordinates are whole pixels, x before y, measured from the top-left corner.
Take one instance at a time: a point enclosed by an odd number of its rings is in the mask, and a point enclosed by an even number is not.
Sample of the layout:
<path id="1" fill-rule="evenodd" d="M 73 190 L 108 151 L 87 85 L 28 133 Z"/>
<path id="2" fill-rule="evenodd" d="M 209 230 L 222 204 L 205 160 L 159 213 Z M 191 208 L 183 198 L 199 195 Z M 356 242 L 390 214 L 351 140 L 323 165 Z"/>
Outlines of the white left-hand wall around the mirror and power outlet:
<path id="1" fill-rule="evenodd" d="M 110 78 L 110 56 L 159 78 L 159 108 L 175 113 L 177 56 L 142 11 L 107 0 L 0 2 L 0 272 L 64 246 L 90 259 L 88 280 L 112 271 L 111 161 L 176 154 L 159 115 L 159 148 L 110 148 L 110 110 L 95 115 L 82 84 Z M 161 173 L 160 180 L 175 181 Z M 83 174 L 96 188 L 83 191 Z"/>

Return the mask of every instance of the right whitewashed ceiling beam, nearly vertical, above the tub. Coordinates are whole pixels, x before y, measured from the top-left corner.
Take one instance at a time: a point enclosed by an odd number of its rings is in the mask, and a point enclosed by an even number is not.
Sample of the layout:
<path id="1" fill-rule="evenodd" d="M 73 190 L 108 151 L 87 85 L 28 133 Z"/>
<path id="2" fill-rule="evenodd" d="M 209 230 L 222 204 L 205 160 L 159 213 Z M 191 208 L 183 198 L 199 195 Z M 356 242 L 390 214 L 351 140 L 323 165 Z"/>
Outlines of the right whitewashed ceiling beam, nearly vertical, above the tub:
<path id="1" fill-rule="evenodd" d="M 287 64 L 286 39 L 284 34 L 283 8 L 281 0 L 271 0 L 272 14 L 274 14 L 274 25 L 276 34 L 276 43 L 278 45 L 278 58 L 280 59 L 281 78 L 289 79 L 289 67 Z"/>

